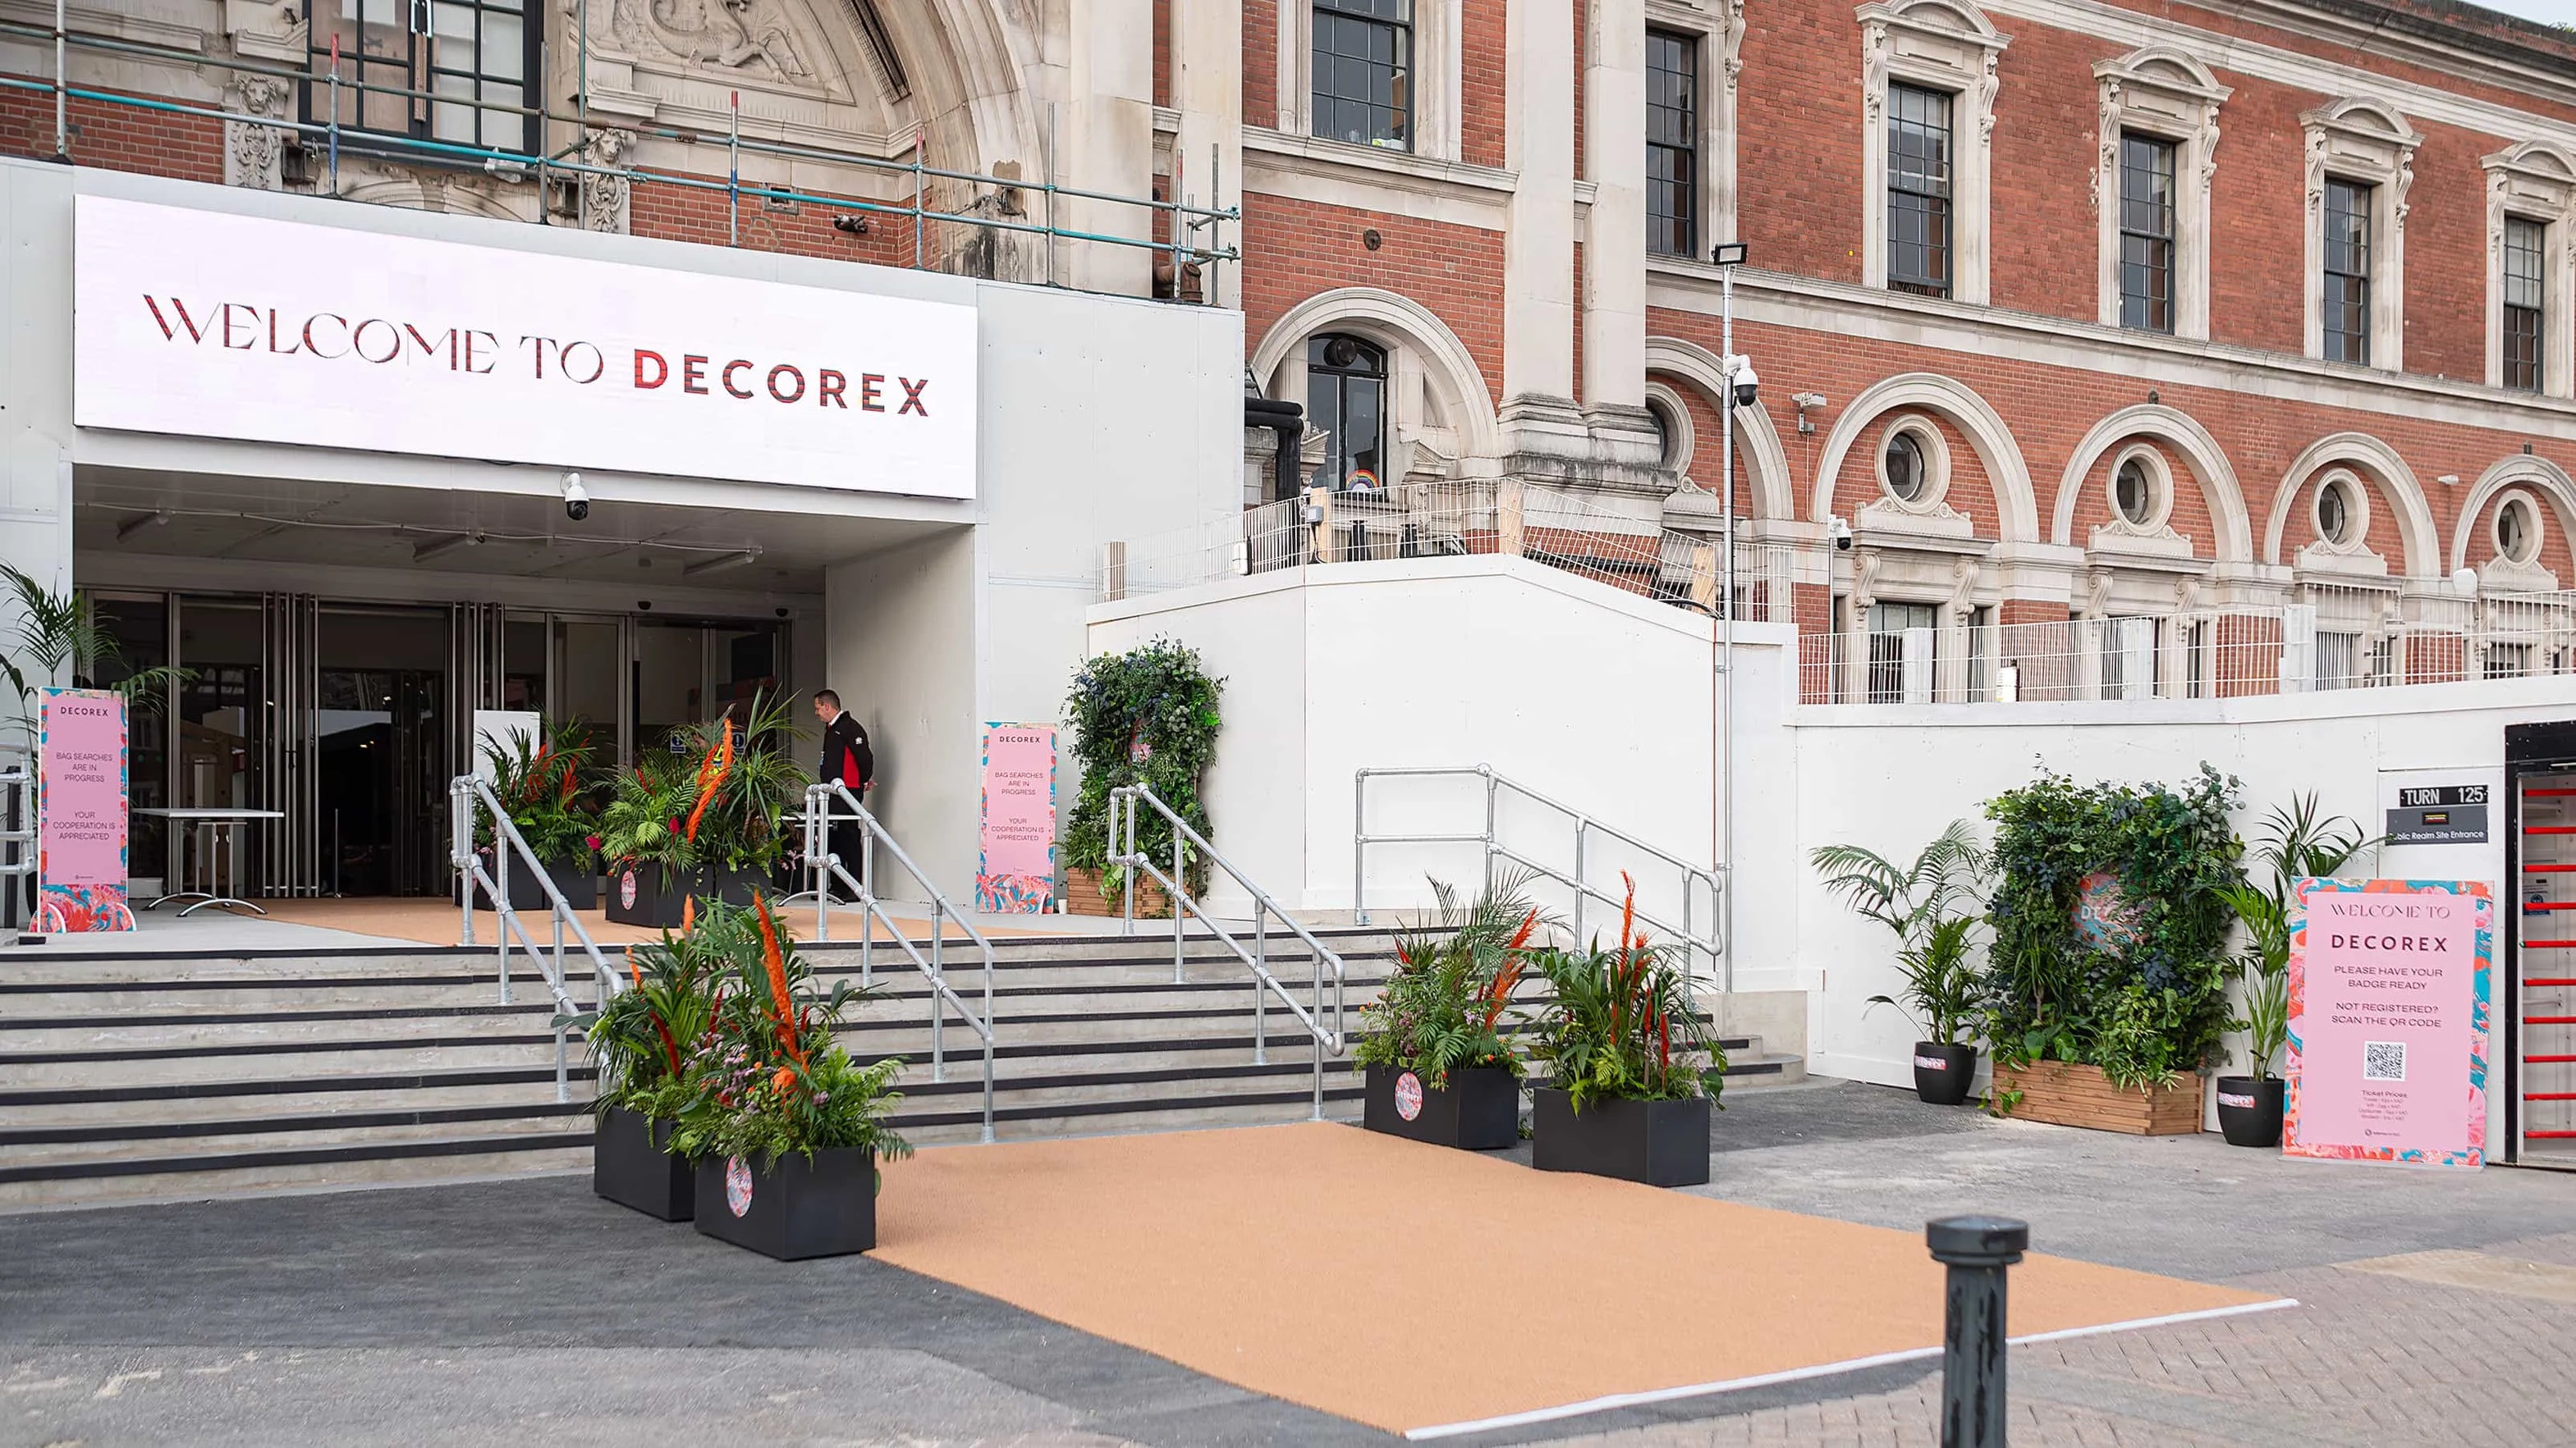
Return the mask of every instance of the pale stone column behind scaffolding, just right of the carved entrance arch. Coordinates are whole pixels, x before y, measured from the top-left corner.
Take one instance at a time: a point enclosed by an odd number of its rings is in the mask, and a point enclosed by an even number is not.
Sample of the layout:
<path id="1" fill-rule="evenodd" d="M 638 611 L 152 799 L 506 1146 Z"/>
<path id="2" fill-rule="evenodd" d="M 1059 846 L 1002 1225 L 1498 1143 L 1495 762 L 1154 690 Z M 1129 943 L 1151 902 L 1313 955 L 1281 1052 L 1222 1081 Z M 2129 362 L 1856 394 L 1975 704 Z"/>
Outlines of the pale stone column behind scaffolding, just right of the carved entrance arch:
<path id="1" fill-rule="evenodd" d="M 1082 0 L 1072 5 L 1069 31 L 1059 180 L 1110 196 L 1151 196 L 1154 0 Z M 1151 211 L 1144 206 L 1066 201 L 1059 216 L 1059 224 L 1079 232 L 1151 234 Z M 1154 289 L 1154 255 L 1144 247 L 1064 242 L 1064 276 L 1079 289 L 1126 296 Z"/>

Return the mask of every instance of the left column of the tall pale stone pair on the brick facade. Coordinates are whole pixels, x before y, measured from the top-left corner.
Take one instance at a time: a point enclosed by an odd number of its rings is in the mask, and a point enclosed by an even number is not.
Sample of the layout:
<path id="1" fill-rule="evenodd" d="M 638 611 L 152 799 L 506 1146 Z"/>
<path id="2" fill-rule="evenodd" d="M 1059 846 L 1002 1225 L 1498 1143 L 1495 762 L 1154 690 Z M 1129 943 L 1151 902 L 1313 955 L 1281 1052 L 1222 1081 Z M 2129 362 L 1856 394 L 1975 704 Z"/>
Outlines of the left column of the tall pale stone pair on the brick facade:
<path id="1" fill-rule="evenodd" d="M 1504 13 L 1504 165 L 1520 173 L 1502 240 L 1507 469 L 1553 477 L 1587 453 L 1574 405 L 1574 5 Z"/>

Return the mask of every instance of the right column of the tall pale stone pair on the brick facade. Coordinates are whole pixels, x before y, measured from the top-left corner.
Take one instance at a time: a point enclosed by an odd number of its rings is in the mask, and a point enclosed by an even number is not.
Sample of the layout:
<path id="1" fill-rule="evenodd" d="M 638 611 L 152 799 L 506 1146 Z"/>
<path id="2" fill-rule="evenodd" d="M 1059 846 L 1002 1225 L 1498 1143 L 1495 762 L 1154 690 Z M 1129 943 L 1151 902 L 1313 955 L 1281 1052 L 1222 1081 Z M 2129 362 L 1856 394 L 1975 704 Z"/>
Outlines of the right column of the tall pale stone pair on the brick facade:
<path id="1" fill-rule="evenodd" d="M 1646 417 L 1646 0 L 1592 0 L 1584 44 L 1584 407 Z M 1651 430 L 1651 428 L 1649 428 Z"/>

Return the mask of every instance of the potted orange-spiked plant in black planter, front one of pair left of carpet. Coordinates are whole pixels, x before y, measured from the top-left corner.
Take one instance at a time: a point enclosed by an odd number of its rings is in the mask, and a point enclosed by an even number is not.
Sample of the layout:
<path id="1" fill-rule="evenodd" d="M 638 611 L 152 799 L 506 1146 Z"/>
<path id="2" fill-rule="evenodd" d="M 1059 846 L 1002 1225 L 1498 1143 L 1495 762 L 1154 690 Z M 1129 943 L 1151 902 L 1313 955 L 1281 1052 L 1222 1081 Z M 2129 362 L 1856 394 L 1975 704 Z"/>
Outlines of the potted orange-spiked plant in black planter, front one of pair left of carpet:
<path id="1" fill-rule="evenodd" d="M 912 1154 L 886 1121 L 902 1062 L 860 1067 L 832 1043 L 860 992 L 840 982 L 819 997 L 768 899 L 755 897 L 750 915 L 757 946 L 729 951 L 732 979 L 690 1064 L 693 1098 L 670 1152 L 698 1162 L 698 1232 L 783 1262 L 866 1252 L 878 1162 Z"/>

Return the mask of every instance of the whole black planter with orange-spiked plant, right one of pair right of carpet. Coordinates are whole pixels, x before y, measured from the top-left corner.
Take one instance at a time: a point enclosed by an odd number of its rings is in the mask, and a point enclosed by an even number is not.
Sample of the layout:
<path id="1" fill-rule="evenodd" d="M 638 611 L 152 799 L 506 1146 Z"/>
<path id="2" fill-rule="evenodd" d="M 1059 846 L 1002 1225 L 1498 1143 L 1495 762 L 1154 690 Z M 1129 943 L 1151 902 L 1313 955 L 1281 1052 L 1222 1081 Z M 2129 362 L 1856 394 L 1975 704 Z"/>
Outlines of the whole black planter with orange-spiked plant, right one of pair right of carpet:
<path id="1" fill-rule="evenodd" d="M 1530 1159 L 1543 1172 L 1592 1172 L 1659 1188 L 1708 1180 L 1708 1123 L 1726 1085 L 1726 1051 L 1672 953 L 1636 930 L 1636 886 L 1620 943 L 1533 951 L 1553 1000 L 1530 1056 L 1548 1064 L 1533 1092 Z"/>

